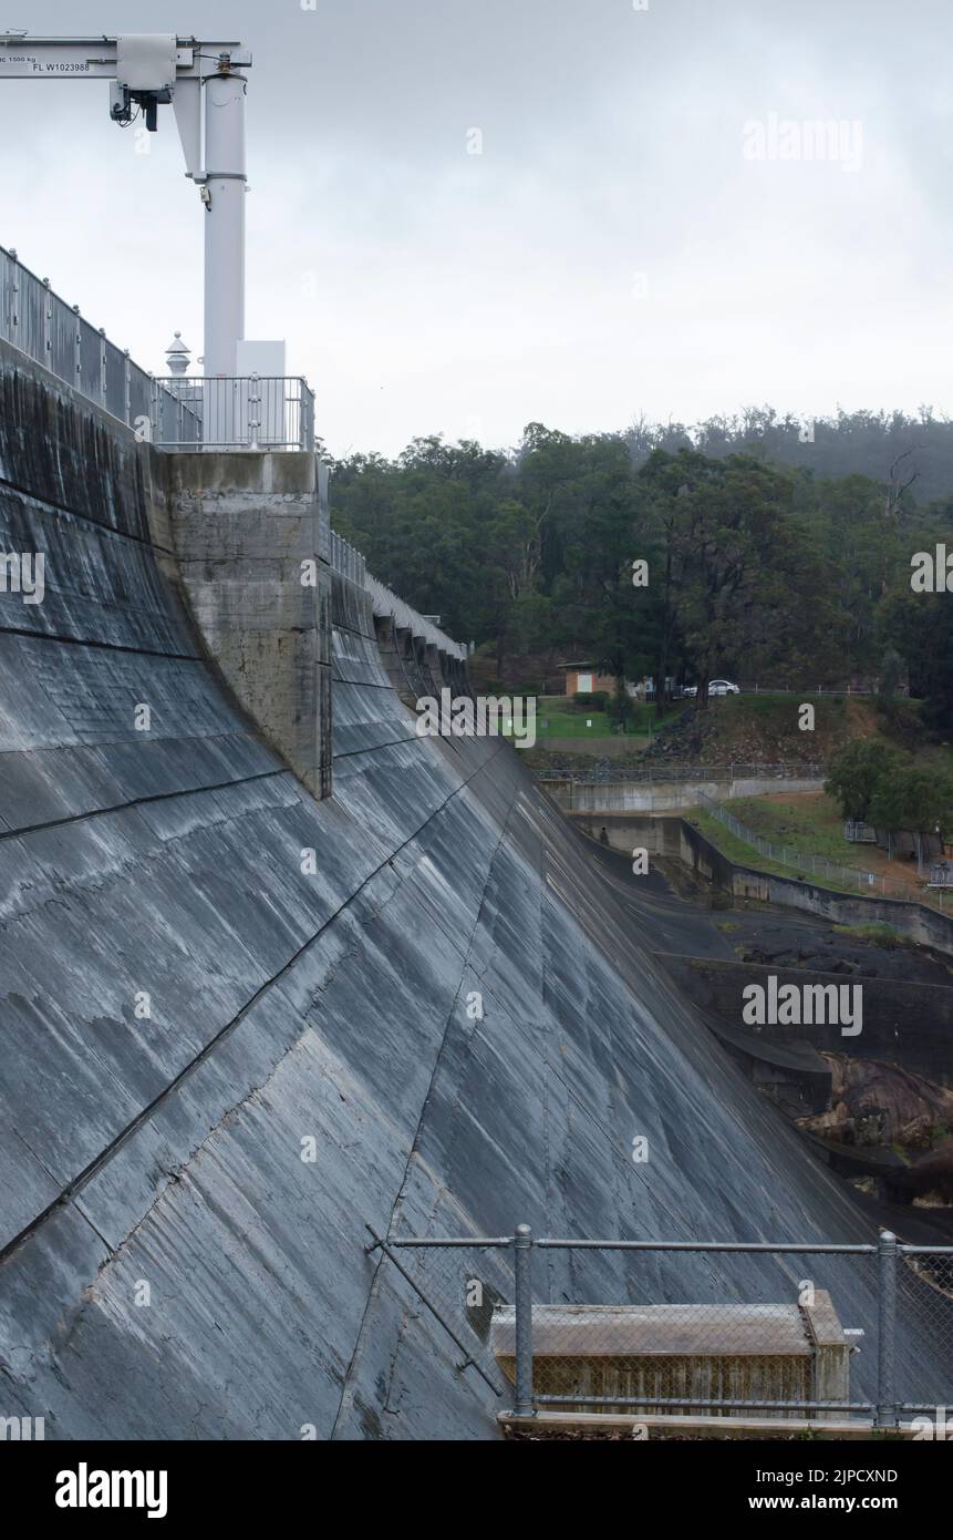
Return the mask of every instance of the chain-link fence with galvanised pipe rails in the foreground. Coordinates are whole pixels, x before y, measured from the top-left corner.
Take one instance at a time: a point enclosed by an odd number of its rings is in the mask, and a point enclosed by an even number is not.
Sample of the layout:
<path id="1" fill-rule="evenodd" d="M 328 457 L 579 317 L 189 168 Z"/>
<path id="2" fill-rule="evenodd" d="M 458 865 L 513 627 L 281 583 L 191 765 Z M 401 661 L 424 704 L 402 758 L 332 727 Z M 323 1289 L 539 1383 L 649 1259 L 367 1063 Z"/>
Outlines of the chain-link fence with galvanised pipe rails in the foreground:
<path id="1" fill-rule="evenodd" d="M 896 1428 L 953 1404 L 953 1247 L 380 1240 L 494 1409 Z M 490 1394 L 493 1392 L 493 1394 Z"/>

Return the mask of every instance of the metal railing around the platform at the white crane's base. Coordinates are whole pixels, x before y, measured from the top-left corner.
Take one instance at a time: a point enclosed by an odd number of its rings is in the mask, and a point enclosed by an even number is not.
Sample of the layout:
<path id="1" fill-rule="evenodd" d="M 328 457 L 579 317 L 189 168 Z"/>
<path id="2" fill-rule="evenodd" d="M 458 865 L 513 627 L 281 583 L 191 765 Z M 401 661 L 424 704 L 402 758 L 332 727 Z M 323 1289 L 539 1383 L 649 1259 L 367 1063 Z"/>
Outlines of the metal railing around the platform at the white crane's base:
<path id="1" fill-rule="evenodd" d="M 151 437 L 160 448 L 314 448 L 314 393 L 299 376 L 174 374 L 154 383 Z"/>

